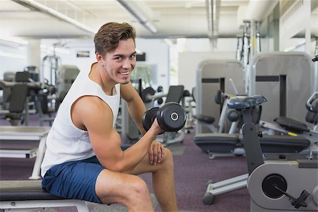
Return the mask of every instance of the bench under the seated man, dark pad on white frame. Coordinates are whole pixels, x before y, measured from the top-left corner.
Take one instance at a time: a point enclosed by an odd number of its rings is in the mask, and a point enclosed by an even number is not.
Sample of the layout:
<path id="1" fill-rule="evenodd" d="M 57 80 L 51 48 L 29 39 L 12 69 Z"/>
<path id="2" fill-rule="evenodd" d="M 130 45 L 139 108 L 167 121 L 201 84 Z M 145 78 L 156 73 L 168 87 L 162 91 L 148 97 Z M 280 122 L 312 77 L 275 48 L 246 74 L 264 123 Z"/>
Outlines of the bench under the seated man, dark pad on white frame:
<path id="1" fill-rule="evenodd" d="M 75 206 L 88 212 L 86 201 L 61 199 L 42 189 L 41 180 L 0 181 L 0 211 L 35 211 L 39 208 Z"/>

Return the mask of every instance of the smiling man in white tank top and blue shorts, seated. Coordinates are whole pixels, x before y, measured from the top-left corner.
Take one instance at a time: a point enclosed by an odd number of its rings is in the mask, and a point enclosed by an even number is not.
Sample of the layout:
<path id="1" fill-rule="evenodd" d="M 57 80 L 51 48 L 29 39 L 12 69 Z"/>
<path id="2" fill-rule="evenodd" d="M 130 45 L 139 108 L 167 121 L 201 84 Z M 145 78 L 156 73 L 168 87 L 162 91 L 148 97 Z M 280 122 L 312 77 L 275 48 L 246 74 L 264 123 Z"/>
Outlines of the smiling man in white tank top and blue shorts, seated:
<path id="1" fill-rule="evenodd" d="M 146 183 L 138 176 L 152 172 L 153 189 L 163 211 L 177 211 L 172 153 L 147 132 L 146 111 L 130 83 L 136 65 L 136 33 L 127 23 L 106 23 L 94 37 L 97 62 L 81 72 L 57 112 L 47 136 L 42 187 L 68 199 L 124 204 L 129 211 L 153 211 Z M 114 129 L 119 100 L 126 100 L 143 137 L 122 151 Z"/>

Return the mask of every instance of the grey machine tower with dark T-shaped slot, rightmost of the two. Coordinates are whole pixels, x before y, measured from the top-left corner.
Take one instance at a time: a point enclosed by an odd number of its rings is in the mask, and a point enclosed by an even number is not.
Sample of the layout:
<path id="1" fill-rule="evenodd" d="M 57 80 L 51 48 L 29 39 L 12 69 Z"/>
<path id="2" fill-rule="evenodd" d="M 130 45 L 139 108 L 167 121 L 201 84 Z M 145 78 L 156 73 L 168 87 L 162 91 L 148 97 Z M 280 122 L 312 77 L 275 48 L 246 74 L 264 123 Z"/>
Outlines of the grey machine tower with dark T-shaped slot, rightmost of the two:
<path id="1" fill-rule="evenodd" d="M 289 117 L 306 122 L 304 103 L 317 91 L 314 62 L 304 52 L 261 52 L 250 63 L 247 95 L 264 95 L 261 121 Z"/>

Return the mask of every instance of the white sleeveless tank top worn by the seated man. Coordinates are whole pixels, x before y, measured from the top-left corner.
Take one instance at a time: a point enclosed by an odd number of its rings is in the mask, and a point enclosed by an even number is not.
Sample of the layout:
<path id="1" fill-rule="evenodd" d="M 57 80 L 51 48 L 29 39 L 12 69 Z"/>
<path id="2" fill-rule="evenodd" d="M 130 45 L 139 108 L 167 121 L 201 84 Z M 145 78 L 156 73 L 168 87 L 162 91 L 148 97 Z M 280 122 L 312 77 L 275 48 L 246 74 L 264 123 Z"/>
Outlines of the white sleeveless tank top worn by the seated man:
<path id="1" fill-rule="evenodd" d="M 71 120 L 71 105 L 84 95 L 98 96 L 110 106 L 114 126 L 119 109 L 120 84 L 115 85 L 113 95 L 106 95 L 98 83 L 88 78 L 86 71 L 81 71 L 61 103 L 47 135 L 47 150 L 41 165 L 42 177 L 54 165 L 95 155 L 88 131 L 78 129 Z"/>

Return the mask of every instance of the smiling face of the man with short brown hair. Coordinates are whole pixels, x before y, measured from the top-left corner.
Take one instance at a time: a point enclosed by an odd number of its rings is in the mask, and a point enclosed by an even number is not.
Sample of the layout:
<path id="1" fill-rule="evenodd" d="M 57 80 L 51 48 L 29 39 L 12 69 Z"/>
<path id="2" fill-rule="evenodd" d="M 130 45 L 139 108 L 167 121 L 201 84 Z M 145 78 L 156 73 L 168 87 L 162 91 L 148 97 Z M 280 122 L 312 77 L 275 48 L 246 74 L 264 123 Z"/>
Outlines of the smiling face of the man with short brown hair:
<path id="1" fill-rule="evenodd" d="M 136 66 L 136 49 L 134 40 L 120 40 L 116 49 L 107 52 L 104 68 L 116 83 L 129 83 L 131 71 Z"/>

